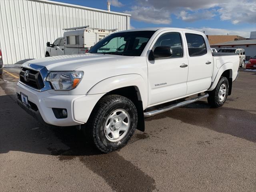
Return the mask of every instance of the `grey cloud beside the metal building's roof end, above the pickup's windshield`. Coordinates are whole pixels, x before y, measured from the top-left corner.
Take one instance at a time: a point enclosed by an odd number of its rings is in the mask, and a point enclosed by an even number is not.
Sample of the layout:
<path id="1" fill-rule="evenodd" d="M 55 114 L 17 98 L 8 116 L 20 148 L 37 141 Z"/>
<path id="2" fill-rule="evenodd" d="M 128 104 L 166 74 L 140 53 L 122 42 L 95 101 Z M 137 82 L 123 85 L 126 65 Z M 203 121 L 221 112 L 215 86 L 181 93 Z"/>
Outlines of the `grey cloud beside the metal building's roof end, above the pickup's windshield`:
<path id="1" fill-rule="evenodd" d="M 143 21 L 153 24 L 170 24 L 170 12 L 167 10 L 159 10 L 154 7 L 133 6 L 131 11 L 125 11 L 131 14 L 132 18 L 137 21 Z"/>

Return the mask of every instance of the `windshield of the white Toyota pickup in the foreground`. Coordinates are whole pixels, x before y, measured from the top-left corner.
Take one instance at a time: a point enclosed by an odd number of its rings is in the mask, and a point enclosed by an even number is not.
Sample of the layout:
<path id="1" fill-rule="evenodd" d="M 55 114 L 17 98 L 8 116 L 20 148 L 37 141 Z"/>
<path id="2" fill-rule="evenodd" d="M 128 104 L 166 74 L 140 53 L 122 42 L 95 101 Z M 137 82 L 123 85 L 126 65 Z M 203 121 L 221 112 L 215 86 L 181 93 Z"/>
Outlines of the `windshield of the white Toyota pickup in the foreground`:
<path id="1" fill-rule="evenodd" d="M 89 53 L 140 56 L 155 31 L 114 33 L 95 44 Z"/>

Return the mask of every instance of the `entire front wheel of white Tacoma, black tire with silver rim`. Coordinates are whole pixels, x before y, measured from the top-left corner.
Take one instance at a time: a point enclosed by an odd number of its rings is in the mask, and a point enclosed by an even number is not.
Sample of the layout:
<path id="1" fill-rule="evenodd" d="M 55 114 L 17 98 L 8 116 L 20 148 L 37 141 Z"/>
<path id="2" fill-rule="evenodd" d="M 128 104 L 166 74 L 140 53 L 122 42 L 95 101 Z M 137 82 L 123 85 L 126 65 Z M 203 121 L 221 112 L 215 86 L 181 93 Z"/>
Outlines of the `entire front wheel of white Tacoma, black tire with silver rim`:
<path id="1" fill-rule="evenodd" d="M 127 144 L 137 122 L 137 109 L 130 99 L 107 95 L 96 104 L 84 132 L 100 151 L 108 153 Z"/>

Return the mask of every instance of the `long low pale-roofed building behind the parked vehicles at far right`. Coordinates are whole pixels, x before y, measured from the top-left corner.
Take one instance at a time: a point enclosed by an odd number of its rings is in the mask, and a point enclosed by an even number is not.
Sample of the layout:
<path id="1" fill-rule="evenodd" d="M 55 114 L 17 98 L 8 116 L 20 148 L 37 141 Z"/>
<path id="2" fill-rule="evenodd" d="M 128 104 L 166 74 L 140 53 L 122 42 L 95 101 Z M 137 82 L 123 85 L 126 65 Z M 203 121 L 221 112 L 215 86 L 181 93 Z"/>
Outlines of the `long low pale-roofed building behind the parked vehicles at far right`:
<path id="1" fill-rule="evenodd" d="M 236 40 L 211 44 L 211 48 L 216 48 L 217 51 L 224 47 L 243 48 L 245 50 L 246 60 L 256 55 L 256 39 Z"/>

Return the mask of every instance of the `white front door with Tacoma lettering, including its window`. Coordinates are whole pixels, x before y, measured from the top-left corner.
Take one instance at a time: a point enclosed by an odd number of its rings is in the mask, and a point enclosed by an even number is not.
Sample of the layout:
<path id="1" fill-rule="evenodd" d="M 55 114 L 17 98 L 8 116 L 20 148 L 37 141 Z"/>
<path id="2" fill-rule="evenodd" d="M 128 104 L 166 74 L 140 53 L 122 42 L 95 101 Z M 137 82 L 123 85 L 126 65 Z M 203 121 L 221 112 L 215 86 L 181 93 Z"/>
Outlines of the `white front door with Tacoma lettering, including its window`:
<path id="1" fill-rule="evenodd" d="M 154 106 L 186 95 L 188 78 L 188 58 L 184 51 L 184 36 L 181 32 L 168 30 L 161 32 L 150 46 L 169 46 L 173 54 L 170 58 L 148 60 L 148 105 Z"/>

